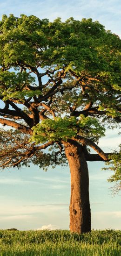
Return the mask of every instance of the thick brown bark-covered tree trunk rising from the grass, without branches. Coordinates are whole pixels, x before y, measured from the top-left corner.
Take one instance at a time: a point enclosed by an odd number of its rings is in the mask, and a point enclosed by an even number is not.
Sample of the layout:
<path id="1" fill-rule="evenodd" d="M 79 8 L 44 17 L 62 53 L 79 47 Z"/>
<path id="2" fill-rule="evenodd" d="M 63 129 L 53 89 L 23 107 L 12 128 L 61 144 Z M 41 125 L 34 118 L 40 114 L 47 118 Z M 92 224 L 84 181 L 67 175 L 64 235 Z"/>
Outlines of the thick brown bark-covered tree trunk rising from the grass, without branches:
<path id="1" fill-rule="evenodd" d="M 70 231 L 91 231 L 88 168 L 83 147 L 77 142 L 64 142 L 71 173 Z"/>

